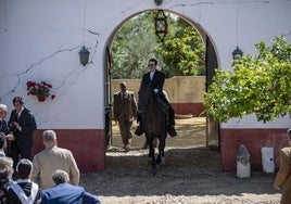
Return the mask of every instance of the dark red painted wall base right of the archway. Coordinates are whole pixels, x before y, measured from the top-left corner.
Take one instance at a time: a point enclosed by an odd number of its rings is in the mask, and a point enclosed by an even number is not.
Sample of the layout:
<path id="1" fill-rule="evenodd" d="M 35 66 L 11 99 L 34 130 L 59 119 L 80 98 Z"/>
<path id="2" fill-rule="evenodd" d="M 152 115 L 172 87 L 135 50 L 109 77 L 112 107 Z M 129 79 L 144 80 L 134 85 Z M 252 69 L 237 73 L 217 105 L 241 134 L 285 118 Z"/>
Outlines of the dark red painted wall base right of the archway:
<path id="1" fill-rule="evenodd" d="M 280 149 L 289 145 L 286 132 L 286 129 L 220 129 L 223 170 L 237 170 L 237 153 L 241 144 L 244 144 L 251 154 L 251 170 L 263 171 L 263 146 L 274 148 L 275 167 L 278 169 Z"/>

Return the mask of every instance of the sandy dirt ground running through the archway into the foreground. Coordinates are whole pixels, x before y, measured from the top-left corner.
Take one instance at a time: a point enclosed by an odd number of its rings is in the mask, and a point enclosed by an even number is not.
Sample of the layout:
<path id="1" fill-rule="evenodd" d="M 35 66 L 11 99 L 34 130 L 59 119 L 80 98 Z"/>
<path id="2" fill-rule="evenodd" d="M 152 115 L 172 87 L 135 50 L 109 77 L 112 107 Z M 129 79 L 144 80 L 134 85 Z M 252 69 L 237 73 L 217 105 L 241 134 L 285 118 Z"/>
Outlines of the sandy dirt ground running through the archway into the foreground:
<path id="1" fill-rule="evenodd" d="M 177 123 L 182 135 L 167 139 L 166 166 L 155 175 L 147 165 L 148 150 L 140 149 L 144 137 L 135 137 L 132 150 L 126 153 L 115 132 L 113 146 L 106 152 L 106 169 L 81 175 L 80 184 L 103 204 L 279 203 L 274 176 L 252 173 L 251 178 L 240 179 L 236 173 L 220 170 L 219 153 L 205 148 L 204 122 L 195 118 Z"/>

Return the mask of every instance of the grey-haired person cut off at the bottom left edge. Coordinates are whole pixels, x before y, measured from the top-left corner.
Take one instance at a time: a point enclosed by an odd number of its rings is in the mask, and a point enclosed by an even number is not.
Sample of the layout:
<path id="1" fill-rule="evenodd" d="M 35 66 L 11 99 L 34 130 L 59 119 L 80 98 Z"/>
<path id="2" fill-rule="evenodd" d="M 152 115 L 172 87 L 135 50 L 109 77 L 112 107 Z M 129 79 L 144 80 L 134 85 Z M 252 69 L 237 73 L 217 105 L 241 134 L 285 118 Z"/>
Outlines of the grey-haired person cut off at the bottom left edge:
<path id="1" fill-rule="evenodd" d="M 0 157 L 0 204 L 7 203 L 8 188 L 13 183 L 13 160 L 11 157 Z"/>

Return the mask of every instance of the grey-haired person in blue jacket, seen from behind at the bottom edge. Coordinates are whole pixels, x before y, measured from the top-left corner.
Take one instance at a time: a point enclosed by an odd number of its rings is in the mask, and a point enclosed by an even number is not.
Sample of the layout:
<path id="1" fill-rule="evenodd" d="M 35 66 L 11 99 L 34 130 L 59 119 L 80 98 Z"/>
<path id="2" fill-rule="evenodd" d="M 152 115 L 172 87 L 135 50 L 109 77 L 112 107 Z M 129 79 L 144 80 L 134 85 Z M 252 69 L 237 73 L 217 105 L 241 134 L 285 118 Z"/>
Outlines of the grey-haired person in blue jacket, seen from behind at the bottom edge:
<path id="1" fill-rule="evenodd" d="M 52 175 L 52 180 L 55 186 L 42 191 L 41 204 L 100 203 L 98 197 L 86 192 L 83 187 L 69 184 L 68 175 L 64 170 L 55 170 Z"/>

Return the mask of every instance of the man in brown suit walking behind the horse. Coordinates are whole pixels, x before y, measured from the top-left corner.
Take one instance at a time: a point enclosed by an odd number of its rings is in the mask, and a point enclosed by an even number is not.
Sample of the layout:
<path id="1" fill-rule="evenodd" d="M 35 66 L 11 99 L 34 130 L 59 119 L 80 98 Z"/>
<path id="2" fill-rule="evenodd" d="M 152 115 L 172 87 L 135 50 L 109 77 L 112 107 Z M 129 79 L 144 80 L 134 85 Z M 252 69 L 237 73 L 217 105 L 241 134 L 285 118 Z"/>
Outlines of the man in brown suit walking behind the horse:
<path id="1" fill-rule="evenodd" d="M 135 93 L 127 90 L 125 81 L 119 84 L 119 88 L 121 91 L 114 93 L 114 119 L 118 123 L 124 149 L 129 151 L 132 138 L 131 126 L 134 119 L 137 119 L 137 102 Z"/>

